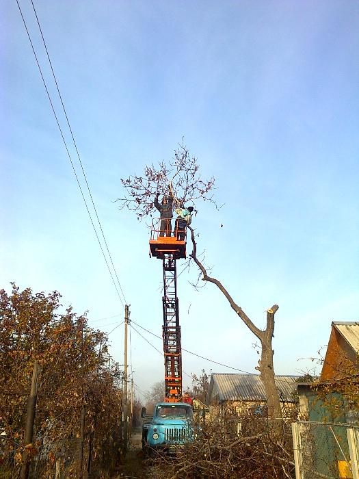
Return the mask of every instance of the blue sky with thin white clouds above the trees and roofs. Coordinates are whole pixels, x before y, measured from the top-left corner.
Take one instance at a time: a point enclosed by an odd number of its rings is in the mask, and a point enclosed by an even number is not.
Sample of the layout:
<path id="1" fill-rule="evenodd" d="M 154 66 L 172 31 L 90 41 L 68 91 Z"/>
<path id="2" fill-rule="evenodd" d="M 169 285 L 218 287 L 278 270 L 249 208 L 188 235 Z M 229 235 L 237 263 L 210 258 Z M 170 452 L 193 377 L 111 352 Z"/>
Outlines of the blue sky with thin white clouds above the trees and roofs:
<path id="1" fill-rule="evenodd" d="M 90 201 L 34 10 L 19 4 Z M 358 320 L 359 3 L 34 5 L 131 320 L 161 335 L 162 272 L 145 224 L 118 209 L 120 179 L 171 159 L 184 138 L 223 205 L 196 205 L 192 224 L 211 274 L 260 328 L 279 305 L 276 374 L 319 372 L 310 358 L 328 344 L 331 322 Z M 0 287 L 57 290 L 110 332 L 124 307 L 15 0 L 1 3 L 0 44 Z M 191 286 L 197 274 L 178 276 L 183 348 L 255 373 L 256 338 L 214 285 Z M 141 396 L 163 379 L 162 344 L 135 328 L 157 348 L 131 329 Z M 123 363 L 123 326 L 109 339 Z M 235 372 L 183 352 L 185 386 L 202 369 Z"/>

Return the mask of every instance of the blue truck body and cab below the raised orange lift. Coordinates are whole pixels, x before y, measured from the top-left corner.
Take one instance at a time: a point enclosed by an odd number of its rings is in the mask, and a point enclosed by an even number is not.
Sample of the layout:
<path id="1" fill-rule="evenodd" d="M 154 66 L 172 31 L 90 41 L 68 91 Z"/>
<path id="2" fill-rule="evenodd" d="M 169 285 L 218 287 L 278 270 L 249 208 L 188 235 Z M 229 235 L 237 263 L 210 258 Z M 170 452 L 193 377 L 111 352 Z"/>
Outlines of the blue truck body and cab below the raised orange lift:
<path id="1" fill-rule="evenodd" d="M 178 448 L 194 439 L 193 409 L 186 402 L 158 402 L 153 415 L 142 408 L 142 449 L 152 456 L 156 451 L 175 454 Z"/>

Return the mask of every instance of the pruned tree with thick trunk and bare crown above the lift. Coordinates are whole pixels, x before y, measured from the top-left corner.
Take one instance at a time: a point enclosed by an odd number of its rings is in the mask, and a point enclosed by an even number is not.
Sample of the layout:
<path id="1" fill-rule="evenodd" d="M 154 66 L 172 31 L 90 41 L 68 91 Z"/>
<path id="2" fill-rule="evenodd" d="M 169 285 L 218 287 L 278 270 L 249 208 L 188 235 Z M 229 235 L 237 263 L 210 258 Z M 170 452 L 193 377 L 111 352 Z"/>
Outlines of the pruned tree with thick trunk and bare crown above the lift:
<path id="1" fill-rule="evenodd" d="M 216 206 L 213 200 L 213 189 L 215 179 L 211 178 L 203 181 L 200 176 L 199 165 L 195 157 L 189 155 L 189 151 L 184 144 L 180 144 L 178 149 L 174 151 L 174 158 L 170 161 L 161 161 L 158 167 L 146 166 L 144 175 L 121 179 L 122 185 L 126 190 L 124 198 L 118 198 L 120 208 L 126 207 L 133 211 L 138 220 L 142 220 L 146 216 L 151 216 L 153 210 L 152 200 L 159 192 L 167 194 L 168 188 L 174 195 L 174 203 L 183 205 L 183 203 L 194 202 L 199 200 L 209 200 Z M 278 311 L 278 305 L 273 305 L 267 310 L 267 325 L 264 330 L 258 328 L 243 309 L 237 305 L 235 300 L 229 294 L 228 290 L 222 283 L 207 273 L 203 263 L 197 256 L 197 244 L 194 230 L 191 230 L 191 242 L 193 251 L 190 255 L 190 261 L 194 261 L 200 270 L 202 281 L 207 281 L 216 285 L 222 294 L 227 298 L 230 307 L 241 318 L 245 326 L 261 341 L 261 359 L 258 361 L 256 369 L 260 372 L 261 380 L 267 394 L 268 415 L 272 419 L 282 417 L 280 408 L 280 399 L 276 384 L 274 381 L 274 365 L 272 348 L 272 338 L 274 334 L 274 315 Z"/>

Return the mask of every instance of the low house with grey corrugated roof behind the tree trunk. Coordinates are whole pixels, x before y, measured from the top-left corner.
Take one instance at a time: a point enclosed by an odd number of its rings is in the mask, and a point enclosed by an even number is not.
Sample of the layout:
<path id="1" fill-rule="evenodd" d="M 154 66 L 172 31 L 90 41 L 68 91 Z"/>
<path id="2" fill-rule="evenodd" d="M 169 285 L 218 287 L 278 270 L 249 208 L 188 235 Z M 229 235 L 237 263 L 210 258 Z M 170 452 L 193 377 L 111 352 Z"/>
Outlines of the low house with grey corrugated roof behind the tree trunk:
<path id="1" fill-rule="evenodd" d="M 276 376 L 282 410 L 293 410 L 296 402 L 296 380 L 298 376 Z M 256 415 L 266 415 L 267 397 L 265 387 L 258 374 L 211 374 L 206 403 L 209 406 L 232 406 L 237 413 L 250 411 Z"/>

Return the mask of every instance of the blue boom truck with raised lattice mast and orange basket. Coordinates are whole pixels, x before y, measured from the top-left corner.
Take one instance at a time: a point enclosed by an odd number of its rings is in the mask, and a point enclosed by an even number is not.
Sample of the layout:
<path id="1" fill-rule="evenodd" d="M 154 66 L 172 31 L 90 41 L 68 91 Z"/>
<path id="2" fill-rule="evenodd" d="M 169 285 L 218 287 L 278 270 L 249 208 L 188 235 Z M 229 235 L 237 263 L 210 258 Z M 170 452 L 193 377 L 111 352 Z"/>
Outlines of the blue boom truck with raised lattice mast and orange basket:
<path id="1" fill-rule="evenodd" d="M 172 232 L 161 231 L 160 225 L 160 220 L 152 221 L 150 257 L 162 260 L 165 398 L 155 405 L 153 415 L 146 415 L 146 408 L 142 409 L 142 448 L 148 454 L 153 450 L 176 452 L 178 447 L 194 436 L 191 426 L 192 405 L 185 402 L 182 396 L 181 326 L 176 276 L 176 260 L 186 257 L 186 227 L 183 225 L 181 234 L 178 234 L 176 221 L 172 235 Z"/>

